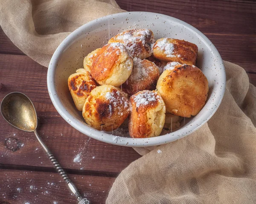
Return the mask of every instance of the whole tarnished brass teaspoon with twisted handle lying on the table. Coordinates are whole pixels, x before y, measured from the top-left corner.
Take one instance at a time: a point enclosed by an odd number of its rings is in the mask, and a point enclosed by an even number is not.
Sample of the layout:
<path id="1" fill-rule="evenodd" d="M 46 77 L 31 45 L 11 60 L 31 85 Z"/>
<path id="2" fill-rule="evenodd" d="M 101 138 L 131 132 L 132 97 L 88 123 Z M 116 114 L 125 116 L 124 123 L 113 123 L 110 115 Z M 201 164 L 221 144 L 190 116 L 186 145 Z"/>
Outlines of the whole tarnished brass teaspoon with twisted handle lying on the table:
<path id="1" fill-rule="evenodd" d="M 44 148 L 46 155 L 52 161 L 52 164 L 54 165 L 58 173 L 62 176 L 63 180 L 66 182 L 71 192 L 76 196 L 79 204 L 89 204 L 89 201 L 86 198 L 82 198 L 75 184 L 73 184 L 70 178 L 68 178 L 67 174 L 59 165 L 58 161 L 56 161 L 55 157 L 52 155 L 52 152 L 49 151 L 48 147 L 44 144 L 44 142 L 38 135 L 38 132 L 36 130 L 38 123 L 37 115 L 35 112 L 35 107 L 33 103 L 29 100 L 29 98 L 20 92 L 9 93 L 3 98 L 0 109 L 3 118 L 9 124 L 15 126 L 17 129 L 35 133 L 35 136 L 41 146 Z"/>

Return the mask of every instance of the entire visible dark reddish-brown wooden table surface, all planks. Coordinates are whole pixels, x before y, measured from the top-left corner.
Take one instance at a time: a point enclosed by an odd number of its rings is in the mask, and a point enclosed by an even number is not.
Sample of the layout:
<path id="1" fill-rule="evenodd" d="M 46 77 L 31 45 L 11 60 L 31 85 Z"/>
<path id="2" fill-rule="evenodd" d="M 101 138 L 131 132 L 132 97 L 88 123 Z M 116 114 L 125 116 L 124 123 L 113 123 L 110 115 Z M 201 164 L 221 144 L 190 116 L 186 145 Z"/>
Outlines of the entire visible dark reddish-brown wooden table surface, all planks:
<path id="1" fill-rule="evenodd" d="M 256 85 L 256 2 L 241 0 L 117 0 L 128 11 L 179 18 L 203 32 L 223 60 L 243 67 Z M 68 125 L 47 91 L 47 68 L 21 52 L 0 30 L 0 100 L 23 92 L 38 113 L 39 133 L 79 190 L 93 204 L 105 203 L 116 176 L 140 155 L 90 139 Z M 0 117 L 0 204 L 76 203 L 35 140 Z"/>

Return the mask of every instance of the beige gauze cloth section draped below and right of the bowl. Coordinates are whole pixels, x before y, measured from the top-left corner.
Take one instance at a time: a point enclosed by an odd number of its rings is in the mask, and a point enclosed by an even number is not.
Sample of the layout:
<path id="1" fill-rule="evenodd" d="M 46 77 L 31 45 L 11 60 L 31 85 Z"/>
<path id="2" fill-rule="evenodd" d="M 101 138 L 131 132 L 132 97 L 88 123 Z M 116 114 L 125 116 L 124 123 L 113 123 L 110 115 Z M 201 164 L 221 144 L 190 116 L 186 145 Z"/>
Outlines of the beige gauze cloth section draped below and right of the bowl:
<path id="1" fill-rule="evenodd" d="M 224 65 L 225 95 L 207 124 L 169 144 L 134 148 L 144 156 L 116 178 L 107 204 L 256 203 L 256 88 L 240 66 Z"/>

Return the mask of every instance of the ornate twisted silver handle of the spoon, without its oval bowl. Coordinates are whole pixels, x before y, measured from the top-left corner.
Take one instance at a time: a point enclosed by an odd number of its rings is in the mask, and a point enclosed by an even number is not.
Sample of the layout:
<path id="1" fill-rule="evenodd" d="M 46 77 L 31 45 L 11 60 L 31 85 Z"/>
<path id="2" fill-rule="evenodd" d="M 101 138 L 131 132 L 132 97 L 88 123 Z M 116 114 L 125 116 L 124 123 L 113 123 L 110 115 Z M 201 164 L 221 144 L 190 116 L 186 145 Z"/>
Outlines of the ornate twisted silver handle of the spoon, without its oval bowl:
<path id="1" fill-rule="evenodd" d="M 52 164 L 58 171 L 58 173 L 61 175 L 63 180 L 66 182 L 67 186 L 69 187 L 70 191 L 75 195 L 76 199 L 79 201 L 79 204 L 89 204 L 89 201 L 86 198 L 82 198 L 81 194 L 79 193 L 79 190 L 76 188 L 75 184 L 70 180 L 70 178 L 67 176 L 66 172 L 62 169 L 61 165 L 58 163 L 58 161 L 53 156 L 52 152 L 49 151 L 48 147 L 44 144 L 40 136 L 38 135 L 38 132 L 34 131 L 36 138 L 38 139 L 39 143 L 42 145 L 44 150 L 46 151 L 46 155 L 51 160 Z"/>

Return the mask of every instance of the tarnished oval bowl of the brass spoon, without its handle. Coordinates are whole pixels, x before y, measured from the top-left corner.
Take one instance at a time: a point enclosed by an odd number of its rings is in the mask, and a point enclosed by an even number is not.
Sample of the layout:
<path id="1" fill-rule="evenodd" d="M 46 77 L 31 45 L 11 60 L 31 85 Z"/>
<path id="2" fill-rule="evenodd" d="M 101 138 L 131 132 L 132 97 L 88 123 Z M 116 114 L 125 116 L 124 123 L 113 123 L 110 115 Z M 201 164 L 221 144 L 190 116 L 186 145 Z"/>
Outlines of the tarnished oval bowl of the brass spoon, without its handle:
<path id="1" fill-rule="evenodd" d="M 37 127 L 35 107 L 23 93 L 12 92 L 6 95 L 1 103 L 1 113 L 17 129 L 33 132 Z"/>

